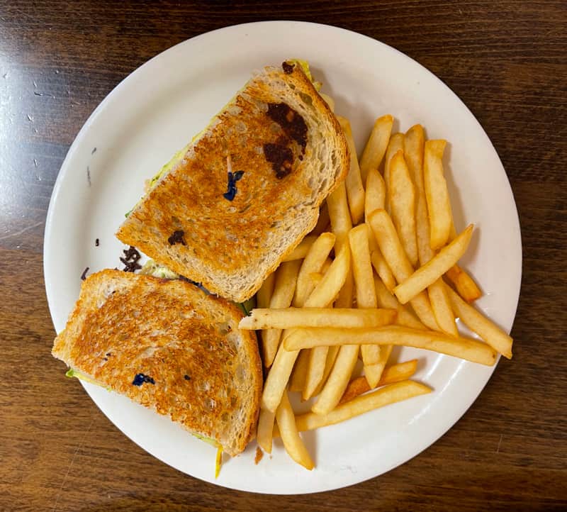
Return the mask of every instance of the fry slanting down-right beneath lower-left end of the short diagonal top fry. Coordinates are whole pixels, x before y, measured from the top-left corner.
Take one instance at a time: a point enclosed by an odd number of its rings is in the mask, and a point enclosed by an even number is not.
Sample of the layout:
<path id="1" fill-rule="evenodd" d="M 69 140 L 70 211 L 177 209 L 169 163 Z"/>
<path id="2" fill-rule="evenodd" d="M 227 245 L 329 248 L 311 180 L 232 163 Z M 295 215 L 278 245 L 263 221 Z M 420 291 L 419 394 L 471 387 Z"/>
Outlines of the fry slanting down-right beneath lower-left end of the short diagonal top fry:
<path id="1" fill-rule="evenodd" d="M 395 279 L 398 283 L 405 281 L 413 273 L 413 267 L 405 255 L 392 219 L 386 211 L 375 210 L 370 215 L 369 223 L 382 255 L 388 263 L 388 267 L 391 268 Z M 420 321 L 430 329 L 439 330 L 430 300 L 425 292 L 417 294 L 410 301 L 410 304 Z"/>

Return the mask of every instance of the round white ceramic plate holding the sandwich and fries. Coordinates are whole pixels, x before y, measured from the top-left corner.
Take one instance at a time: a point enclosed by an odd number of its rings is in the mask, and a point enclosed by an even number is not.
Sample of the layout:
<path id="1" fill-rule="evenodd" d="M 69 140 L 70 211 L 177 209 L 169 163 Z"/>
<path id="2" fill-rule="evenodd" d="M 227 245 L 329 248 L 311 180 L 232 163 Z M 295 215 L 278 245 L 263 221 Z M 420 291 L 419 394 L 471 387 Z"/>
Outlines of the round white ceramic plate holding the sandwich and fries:
<path id="1" fill-rule="evenodd" d="M 58 332 L 84 268 L 120 266 L 124 247 L 113 233 L 144 180 L 206 126 L 254 69 L 290 57 L 310 62 L 337 113 L 351 119 L 359 150 L 383 113 L 398 120 L 395 130 L 419 122 L 429 138 L 451 142 L 445 163 L 456 227 L 477 226 L 464 265 L 485 291 L 478 306 L 510 330 L 520 292 L 520 226 L 503 166 L 478 121 L 447 86 L 397 50 L 347 30 L 281 21 L 223 28 L 170 48 L 130 74 L 86 121 L 57 178 L 45 229 L 45 286 Z M 299 494 L 356 484 L 403 464 L 451 428 L 493 372 L 425 351 L 395 355 L 419 357 L 416 378 L 434 392 L 305 434 L 317 466 L 312 472 L 292 462 L 279 442 L 254 465 L 252 443 L 215 480 L 212 447 L 128 399 L 84 387 L 128 438 L 182 472 L 234 489 Z"/>

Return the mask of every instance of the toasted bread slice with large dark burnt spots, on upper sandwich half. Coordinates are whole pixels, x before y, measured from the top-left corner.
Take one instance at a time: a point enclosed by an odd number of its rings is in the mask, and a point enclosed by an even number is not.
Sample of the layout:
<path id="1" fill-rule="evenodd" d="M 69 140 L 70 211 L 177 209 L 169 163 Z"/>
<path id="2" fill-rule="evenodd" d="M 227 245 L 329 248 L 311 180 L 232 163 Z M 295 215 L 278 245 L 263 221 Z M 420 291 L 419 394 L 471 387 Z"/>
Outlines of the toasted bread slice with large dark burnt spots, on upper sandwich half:
<path id="1" fill-rule="evenodd" d="M 242 302 L 313 229 L 348 165 L 339 123 L 301 66 L 266 67 L 157 180 L 116 236 Z"/>

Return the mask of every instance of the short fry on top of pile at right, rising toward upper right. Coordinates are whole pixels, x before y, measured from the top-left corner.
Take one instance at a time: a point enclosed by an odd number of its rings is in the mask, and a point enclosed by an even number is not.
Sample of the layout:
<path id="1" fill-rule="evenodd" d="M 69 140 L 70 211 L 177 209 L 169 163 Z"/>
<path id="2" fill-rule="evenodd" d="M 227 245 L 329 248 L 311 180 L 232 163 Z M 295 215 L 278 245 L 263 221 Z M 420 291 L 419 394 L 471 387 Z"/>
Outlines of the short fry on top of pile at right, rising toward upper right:
<path id="1" fill-rule="evenodd" d="M 461 256 L 464 255 L 468 243 L 471 241 L 473 228 L 474 226 L 470 224 L 449 245 L 437 252 L 437 255 L 432 257 L 425 265 L 422 265 L 422 267 L 401 282 L 398 280 L 400 284 L 394 289 L 398 301 L 402 304 L 410 301 L 455 265 L 461 259 Z"/>

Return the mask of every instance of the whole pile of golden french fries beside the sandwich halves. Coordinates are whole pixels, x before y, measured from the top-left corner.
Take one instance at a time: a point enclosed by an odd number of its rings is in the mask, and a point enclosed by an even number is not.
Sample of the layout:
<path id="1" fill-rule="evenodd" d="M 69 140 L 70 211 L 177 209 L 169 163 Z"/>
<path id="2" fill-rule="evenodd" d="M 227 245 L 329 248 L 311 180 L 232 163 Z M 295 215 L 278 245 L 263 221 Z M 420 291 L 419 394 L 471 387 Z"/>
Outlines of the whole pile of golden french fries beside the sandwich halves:
<path id="1" fill-rule="evenodd" d="M 512 338 L 471 306 L 481 291 L 457 265 L 473 226 L 454 228 L 446 141 L 425 140 L 420 125 L 392 134 L 393 117 L 381 116 L 359 162 L 349 121 L 337 118 L 350 150 L 347 179 L 240 322 L 261 332 L 269 369 L 257 442 L 271 453 L 279 435 L 307 469 L 314 464 L 299 432 L 431 391 L 410 380 L 417 360 L 388 364 L 393 346 L 488 365 L 498 352 L 512 357 Z M 482 341 L 460 335 L 455 318 Z M 359 357 L 364 376 L 354 378 Z M 289 391 L 316 397 L 311 411 L 296 415 Z"/>

